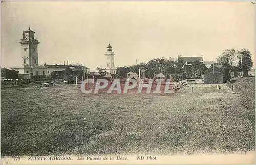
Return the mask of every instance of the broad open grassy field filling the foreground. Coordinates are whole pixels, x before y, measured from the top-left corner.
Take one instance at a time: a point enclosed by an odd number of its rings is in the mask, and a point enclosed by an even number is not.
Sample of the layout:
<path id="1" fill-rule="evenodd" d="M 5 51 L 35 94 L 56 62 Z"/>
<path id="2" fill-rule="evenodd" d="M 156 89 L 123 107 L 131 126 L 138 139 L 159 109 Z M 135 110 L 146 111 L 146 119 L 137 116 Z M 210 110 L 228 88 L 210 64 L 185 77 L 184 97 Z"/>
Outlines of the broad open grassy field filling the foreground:
<path id="1" fill-rule="evenodd" d="M 255 148 L 254 78 L 175 95 L 86 95 L 76 85 L 1 90 L 2 155 L 193 154 Z M 246 86 L 246 88 L 242 88 Z M 191 91 L 194 87 L 194 91 Z"/>

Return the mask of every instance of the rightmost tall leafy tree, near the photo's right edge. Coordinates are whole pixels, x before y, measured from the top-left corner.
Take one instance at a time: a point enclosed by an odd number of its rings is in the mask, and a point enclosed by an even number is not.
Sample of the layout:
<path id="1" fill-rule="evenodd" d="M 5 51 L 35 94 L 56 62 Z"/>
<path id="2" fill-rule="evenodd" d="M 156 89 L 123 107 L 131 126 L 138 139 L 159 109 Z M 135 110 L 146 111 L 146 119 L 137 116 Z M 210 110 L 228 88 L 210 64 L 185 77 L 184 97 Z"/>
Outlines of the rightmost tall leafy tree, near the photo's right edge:
<path id="1" fill-rule="evenodd" d="M 251 53 L 248 49 L 238 51 L 238 68 L 243 70 L 244 76 L 248 76 L 248 70 L 252 67 Z"/>

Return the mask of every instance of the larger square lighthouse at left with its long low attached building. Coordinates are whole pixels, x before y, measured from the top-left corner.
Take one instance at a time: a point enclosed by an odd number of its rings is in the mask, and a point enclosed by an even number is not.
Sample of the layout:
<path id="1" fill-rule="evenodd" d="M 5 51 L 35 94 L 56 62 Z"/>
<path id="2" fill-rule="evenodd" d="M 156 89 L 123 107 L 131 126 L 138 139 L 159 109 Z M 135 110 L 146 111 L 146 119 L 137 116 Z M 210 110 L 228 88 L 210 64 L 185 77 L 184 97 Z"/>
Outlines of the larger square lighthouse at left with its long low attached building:
<path id="1" fill-rule="evenodd" d="M 46 75 L 50 76 L 55 70 L 65 70 L 67 67 L 72 69 L 84 69 L 89 73 L 90 68 L 82 65 L 39 65 L 38 64 L 38 51 L 37 46 L 39 44 L 38 40 L 34 38 L 35 32 L 33 32 L 30 27 L 28 30 L 23 31 L 22 39 L 19 43 L 21 46 L 21 56 L 19 66 L 11 67 L 11 69 L 17 70 L 20 75 L 26 76 L 29 74 L 29 77 Z"/>

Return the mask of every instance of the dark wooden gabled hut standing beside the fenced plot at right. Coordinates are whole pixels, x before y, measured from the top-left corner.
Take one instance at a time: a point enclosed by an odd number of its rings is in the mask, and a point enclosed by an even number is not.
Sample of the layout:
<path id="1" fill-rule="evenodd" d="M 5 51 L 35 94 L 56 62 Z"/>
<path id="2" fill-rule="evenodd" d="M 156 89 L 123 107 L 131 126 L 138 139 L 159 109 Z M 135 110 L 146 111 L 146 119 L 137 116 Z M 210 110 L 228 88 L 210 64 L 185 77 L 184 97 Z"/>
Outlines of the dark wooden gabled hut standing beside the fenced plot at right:
<path id="1" fill-rule="evenodd" d="M 223 83 L 223 72 L 221 67 L 211 66 L 204 72 L 204 83 L 205 84 L 222 84 Z"/>

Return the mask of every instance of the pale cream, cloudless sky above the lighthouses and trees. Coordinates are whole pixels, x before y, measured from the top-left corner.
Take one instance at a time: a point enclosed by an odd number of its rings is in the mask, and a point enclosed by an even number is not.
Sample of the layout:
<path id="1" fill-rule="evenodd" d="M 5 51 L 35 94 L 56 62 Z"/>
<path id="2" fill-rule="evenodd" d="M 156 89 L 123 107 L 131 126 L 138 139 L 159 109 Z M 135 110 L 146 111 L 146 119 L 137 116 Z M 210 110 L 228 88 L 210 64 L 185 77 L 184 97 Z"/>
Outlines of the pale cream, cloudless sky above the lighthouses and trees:
<path id="1" fill-rule="evenodd" d="M 255 61 L 251 2 L 7 1 L 1 9 L 2 67 L 20 66 L 28 26 L 40 42 L 39 64 L 106 67 L 109 43 L 115 66 L 178 55 L 216 61 L 231 48 L 248 49 Z"/>

